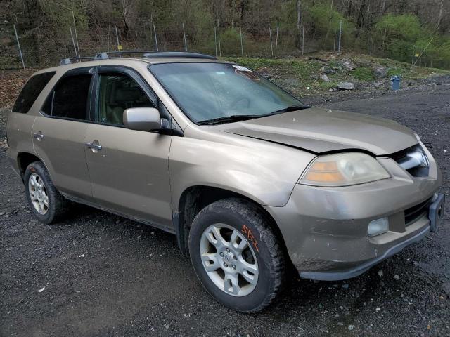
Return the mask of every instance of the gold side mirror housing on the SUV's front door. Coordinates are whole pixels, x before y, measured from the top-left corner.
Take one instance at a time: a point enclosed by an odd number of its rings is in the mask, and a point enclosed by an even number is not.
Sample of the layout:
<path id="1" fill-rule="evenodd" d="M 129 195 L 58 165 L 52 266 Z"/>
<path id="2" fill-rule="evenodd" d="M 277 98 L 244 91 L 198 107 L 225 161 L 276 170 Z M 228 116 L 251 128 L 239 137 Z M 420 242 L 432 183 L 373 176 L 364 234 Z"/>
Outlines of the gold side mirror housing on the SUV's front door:
<path id="1" fill-rule="evenodd" d="M 124 126 L 131 130 L 155 131 L 162 128 L 162 119 L 154 107 L 130 107 L 124 110 Z"/>

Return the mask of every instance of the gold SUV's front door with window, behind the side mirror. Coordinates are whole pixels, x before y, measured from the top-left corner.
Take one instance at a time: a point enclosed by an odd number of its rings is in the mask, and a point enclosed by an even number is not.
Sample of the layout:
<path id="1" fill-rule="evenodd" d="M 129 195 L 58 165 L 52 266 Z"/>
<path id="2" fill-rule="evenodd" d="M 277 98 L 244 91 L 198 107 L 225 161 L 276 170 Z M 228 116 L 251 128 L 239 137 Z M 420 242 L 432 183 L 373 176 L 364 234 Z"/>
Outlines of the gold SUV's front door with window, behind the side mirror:
<path id="1" fill-rule="evenodd" d="M 130 70 L 100 67 L 96 123 L 84 143 L 95 202 L 105 209 L 171 226 L 169 149 L 172 136 L 125 128 L 129 107 L 156 107 L 150 88 Z"/>

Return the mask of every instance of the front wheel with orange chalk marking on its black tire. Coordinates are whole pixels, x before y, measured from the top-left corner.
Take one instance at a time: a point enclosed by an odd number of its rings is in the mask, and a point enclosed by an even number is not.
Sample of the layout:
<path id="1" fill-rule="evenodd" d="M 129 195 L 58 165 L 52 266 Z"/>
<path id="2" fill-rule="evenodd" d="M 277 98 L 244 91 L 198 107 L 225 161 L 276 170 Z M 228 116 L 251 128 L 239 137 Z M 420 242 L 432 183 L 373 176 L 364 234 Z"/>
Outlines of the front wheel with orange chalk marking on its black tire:
<path id="1" fill-rule="evenodd" d="M 266 308 L 284 283 L 280 242 L 250 201 L 223 199 L 200 211 L 189 233 L 189 253 L 205 289 L 233 310 Z"/>

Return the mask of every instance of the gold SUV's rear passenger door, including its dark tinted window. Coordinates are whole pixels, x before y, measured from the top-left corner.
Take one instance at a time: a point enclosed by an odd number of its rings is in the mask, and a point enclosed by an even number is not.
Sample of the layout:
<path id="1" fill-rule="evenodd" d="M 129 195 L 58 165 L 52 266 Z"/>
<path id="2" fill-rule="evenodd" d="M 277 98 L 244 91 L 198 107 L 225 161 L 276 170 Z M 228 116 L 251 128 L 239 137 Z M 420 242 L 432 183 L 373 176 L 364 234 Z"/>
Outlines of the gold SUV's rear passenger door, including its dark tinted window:
<path id="1" fill-rule="evenodd" d="M 84 137 L 91 121 L 95 68 L 70 70 L 46 99 L 32 128 L 34 152 L 44 160 L 58 190 L 89 200 L 91 180 Z"/>

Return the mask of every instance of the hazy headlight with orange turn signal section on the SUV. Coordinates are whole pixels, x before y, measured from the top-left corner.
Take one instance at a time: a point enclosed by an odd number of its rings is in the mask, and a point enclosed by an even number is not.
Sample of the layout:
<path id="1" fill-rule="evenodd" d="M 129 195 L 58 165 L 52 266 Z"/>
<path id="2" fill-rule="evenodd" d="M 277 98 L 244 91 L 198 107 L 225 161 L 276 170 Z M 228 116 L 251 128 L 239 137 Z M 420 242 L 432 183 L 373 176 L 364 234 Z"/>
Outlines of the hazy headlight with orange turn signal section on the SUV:
<path id="1" fill-rule="evenodd" d="M 390 175 L 375 158 L 360 152 L 348 152 L 317 157 L 303 174 L 300 184 L 336 187 L 385 178 L 390 178 Z"/>

